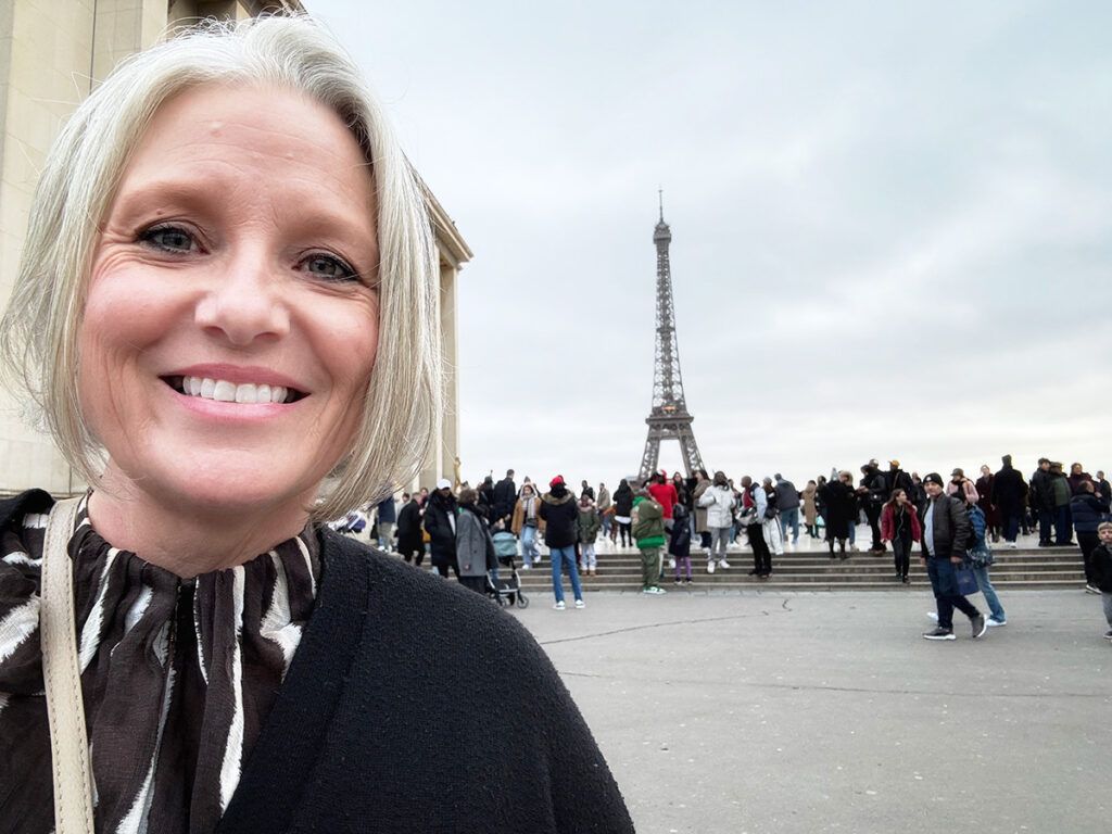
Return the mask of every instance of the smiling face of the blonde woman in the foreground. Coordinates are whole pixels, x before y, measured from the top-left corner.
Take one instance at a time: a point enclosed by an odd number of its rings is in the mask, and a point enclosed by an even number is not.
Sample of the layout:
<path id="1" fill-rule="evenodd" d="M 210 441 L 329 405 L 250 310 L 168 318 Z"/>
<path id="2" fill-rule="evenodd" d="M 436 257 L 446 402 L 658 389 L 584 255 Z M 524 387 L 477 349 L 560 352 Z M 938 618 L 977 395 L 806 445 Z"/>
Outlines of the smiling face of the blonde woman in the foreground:
<path id="1" fill-rule="evenodd" d="M 374 188 L 299 93 L 167 102 L 100 230 L 81 406 L 109 473 L 182 509 L 306 506 L 346 454 L 378 346 Z"/>

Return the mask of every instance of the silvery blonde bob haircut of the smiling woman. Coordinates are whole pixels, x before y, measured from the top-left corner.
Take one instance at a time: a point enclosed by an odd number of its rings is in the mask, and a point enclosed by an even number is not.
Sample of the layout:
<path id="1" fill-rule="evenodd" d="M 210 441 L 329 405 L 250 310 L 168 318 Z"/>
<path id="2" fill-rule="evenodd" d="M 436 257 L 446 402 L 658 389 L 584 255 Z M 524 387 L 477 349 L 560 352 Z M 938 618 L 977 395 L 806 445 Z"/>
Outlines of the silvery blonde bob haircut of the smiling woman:
<path id="1" fill-rule="evenodd" d="M 439 272 L 420 183 L 355 62 L 309 18 L 206 22 L 127 59 L 78 107 L 39 180 L 0 355 L 12 387 L 29 395 L 70 465 L 95 484 L 106 450 L 82 416 L 77 379 L 98 230 L 151 118 L 171 97 L 208 83 L 278 87 L 331 108 L 373 178 L 378 356 L 353 446 L 311 508 L 317 520 L 335 518 L 411 479 L 431 448 L 441 399 Z"/>

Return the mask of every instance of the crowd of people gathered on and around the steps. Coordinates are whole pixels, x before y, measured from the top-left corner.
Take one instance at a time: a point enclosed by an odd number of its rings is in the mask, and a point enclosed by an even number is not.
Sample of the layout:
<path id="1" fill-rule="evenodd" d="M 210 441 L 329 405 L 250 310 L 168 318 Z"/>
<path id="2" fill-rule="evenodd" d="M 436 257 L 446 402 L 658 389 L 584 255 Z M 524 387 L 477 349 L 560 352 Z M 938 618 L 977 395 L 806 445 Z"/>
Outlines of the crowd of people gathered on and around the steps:
<path id="1" fill-rule="evenodd" d="M 485 477 L 478 488 L 441 479 L 431 492 L 404 493 L 400 512 L 390 496 L 377 507 L 350 514 L 338 527 L 361 529 L 374 512 L 374 536 L 381 546 L 396 547 L 417 566 L 427 555 L 441 576 L 455 574 L 480 593 L 489 589 L 487 577 L 497 574 L 494 536 L 510 534 L 526 570 L 540 563 L 543 543 L 550 559 L 554 607 L 563 610 L 565 575 L 575 606 L 585 606 L 580 574 L 596 574 L 599 537 L 614 547 L 636 547 L 642 593 L 659 595 L 665 593 L 665 569 L 674 570 L 676 585 L 693 583 L 693 553 L 714 574 L 731 568 L 728 548 L 744 542 L 753 557 L 748 574 L 767 579 L 774 557 L 783 555 L 786 544 L 797 545 L 801 530 L 825 542 L 832 560 L 845 560 L 860 552 L 856 536 L 863 525 L 871 534 L 870 554 L 880 556 L 891 548 L 900 583 L 910 583 L 912 552 L 919 544 L 939 600 L 937 627 L 924 635 L 932 639 L 953 638 L 954 609 L 970 617 L 977 637 L 987 627 L 1005 625 L 989 575 L 991 545 L 1003 542 L 1016 548 L 1021 534 L 1037 534 L 1040 547 L 1079 547 L 1085 589 L 1104 595 L 1110 627 L 1105 636 L 1112 641 L 1112 485 L 1103 471 L 1090 475 L 1081 464 L 1073 464 L 1068 475 L 1061 463 L 1041 458 L 1030 478 L 1013 466 L 1010 455 L 1001 464 L 995 473 L 981 466 L 974 480 L 962 468 L 943 479 L 935 473 L 907 473 L 896 459 L 887 461 L 887 468 L 870 460 L 860 477 L 834 468 L 803 489 L 780 473 L 759 481 L 745 475 L 735 483 L 723 471 L 701 469 L 691 477 L 658 471 L 644 481 L 623 478 L 613 494 L 606 484 L 596 489 L 583 480 L 578 497 L 563 476 L 552 478 L 544 492 L 528 477 L 518 487 L 510 469 L 497 483 Z M 984 595 L 987 618 L 959 593 L 959 582 L 961 588 L 975 587 Z"/>

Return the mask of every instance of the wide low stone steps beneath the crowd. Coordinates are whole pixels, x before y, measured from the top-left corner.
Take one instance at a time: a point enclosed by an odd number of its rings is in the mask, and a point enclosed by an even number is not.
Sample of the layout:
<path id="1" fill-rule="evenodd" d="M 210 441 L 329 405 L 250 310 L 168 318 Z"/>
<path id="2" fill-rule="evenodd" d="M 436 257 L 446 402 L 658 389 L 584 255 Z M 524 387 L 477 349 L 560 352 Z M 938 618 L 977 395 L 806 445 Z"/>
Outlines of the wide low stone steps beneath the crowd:
<path id="1" fill-rule="evenodd" d="M 867 546 L 867 537 L 858 538 Z M 1019 549 L 1000 545 L 993 548 L 992 584 L 996 588 L 1082 588 L 1084 570 L 1081 550 L 1076 547 L 1037 547 L 1036 542 L 1021 539 Z M 1035 546 L 1032 546 L 1035 545 Z M 526 593 L 552 592 L 552 563 L 547 548 L 543 562 L 532 570 L 519 570 Z M 667 567 L 661 586 L 684 590 L 894 590 L 903 587 L 930 587 L 920 555 L 912 553 L 911 585 L 904 586 L 895 578 L 892 552 L 874 556 L 867 552 L 851 553 L 845 562 L 831 560 L 822 543 L 800 539 L 795 547 L 785 546 L 783 556 L 773 556 L 773 573 L 768 579 L 748 576 L 753 568 L 753 552 L 748 547 L 732 547 L 727 555 L 729 568 L 706 573 L 706 557 L 702 552 L 692 553 L 692 584 L 674 585 L 675 570 Z M 520 563 L 518 563 L 520 568 Z M 505 568 L 503 568 L 505 572 Z M 608 542 L 598 547 L 598 574 L 586 576 L 580 572 L 585 590 L 639 590 L 641 554 L 635 548 L 614 547 Z M 569 583 L 565 575 L 565 590 Z"/>

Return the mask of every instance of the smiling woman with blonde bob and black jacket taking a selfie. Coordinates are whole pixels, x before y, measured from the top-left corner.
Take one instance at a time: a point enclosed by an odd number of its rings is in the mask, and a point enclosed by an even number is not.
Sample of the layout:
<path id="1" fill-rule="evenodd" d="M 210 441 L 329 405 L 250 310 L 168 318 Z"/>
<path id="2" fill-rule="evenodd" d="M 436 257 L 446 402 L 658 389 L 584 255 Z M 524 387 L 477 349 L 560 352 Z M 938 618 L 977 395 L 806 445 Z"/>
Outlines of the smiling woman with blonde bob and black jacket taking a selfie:
<path id="1" fill-rule="evenodd" d="M 0 831 L 632 830 L 509 615 L 319 524 L 427 451 L 436 280 L 305 19 L 173 39 L 81 105 L 0 338 L 96 487 L 0 503 Z"/>

